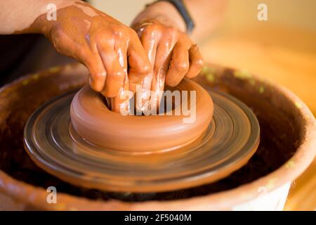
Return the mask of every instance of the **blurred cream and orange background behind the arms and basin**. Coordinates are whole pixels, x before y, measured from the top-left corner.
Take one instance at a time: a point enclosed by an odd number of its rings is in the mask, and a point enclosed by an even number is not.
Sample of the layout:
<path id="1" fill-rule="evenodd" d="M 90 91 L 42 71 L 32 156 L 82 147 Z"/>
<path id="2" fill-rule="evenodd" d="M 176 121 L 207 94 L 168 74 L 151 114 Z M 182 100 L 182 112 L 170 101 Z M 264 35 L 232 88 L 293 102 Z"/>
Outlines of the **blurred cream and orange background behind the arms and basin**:
<path id="1" fill-rule="evenodd" d="M 91 0 L 101 11 L 129 25 L 147 0 Z M 268 20 L 258 21 L 258 4 Z M 316 115 L 316 1 L 228 0 L 216 32 L 200 41 L 210 63 L 247 70 L 286 86 Z M 316 210 L 316 160 L 292 184 L 285 210 Z"/>

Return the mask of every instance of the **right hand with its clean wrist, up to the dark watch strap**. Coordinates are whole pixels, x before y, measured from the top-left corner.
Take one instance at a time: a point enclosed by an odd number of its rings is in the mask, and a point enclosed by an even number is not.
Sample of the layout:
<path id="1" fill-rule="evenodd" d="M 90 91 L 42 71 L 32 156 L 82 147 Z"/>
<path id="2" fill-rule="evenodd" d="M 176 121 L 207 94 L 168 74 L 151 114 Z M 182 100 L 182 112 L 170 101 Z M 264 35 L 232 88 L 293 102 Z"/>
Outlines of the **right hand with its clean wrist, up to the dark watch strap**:
<path id="1" fill-rule="evenodd" d="M 152 64 L 152 72 L 143 80 L 143 90 L 150 89 L 154 91 L 152 95 L 155 93 L 150 98 L 159 99 L 164 84 L 176 86 L 184 77 L 196 77 L 202 70 L 201 53 L 185 34 L 183 18 L 171 4 L 161 1 L 147 7 L 131 27 L 138 32 Z"/>

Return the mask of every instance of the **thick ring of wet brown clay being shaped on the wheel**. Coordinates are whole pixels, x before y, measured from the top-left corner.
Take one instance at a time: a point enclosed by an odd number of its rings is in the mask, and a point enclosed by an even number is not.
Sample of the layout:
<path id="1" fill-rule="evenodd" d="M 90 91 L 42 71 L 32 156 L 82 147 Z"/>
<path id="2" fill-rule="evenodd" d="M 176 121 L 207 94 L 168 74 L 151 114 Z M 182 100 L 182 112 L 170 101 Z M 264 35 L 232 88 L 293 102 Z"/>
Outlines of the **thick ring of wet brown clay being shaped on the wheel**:
<path id="1" fill-rule="evenodd" d="M 213 102 L 199 84 L 189 79 L 183 79 L 176 89 L 196 91 L 194 122 L 184 123 L 183 113 L 147 116 L 113 113 L 97 92 L 84 86 L 72 101 L 72 124 L 86 141 L 112 150 L 148 153 L 186 146 L 198 139 L 209 126 Z"/>

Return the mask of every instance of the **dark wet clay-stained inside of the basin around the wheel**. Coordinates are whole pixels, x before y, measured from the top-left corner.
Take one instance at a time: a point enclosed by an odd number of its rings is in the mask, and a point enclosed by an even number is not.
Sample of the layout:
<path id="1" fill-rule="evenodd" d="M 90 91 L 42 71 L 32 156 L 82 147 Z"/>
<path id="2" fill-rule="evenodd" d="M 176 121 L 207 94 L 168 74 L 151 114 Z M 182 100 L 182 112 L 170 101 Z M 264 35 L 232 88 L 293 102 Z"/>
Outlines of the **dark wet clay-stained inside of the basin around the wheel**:
<path id="1" fill-rule="evenodd" d="M 254 110 L 261 126 L 261 143 L 244 167 L 213 184 L 164 193 L 109 193 L 72 186 L 37 167 L 23 148 L 22 136 L 27 118 L 41 103 L 84 84 L 83 78 L 76 75 L 77 72 L 70 72 L 65 76 L 65 72 L 58 71 L 54 75 L 42 74 L 37 79 L 23 80 L 0 92 L 0 169 L 34 186 L 55 186 L 62 193 L 91 199 L 173 200 L 225 191 L 254 181 L 283 165 L 299 144 L 293 116 L 272 105 L 268 97 L 263 98 L 265 89 L 235 77 L 233 70 L 212 70 L 199 76 L 197 82 L 205 88 L 220 89 L 244 101 Z M 72 84 L 75 79 L 82 82 Z M 255 93 L 254 90 L 258 91 Z"/>

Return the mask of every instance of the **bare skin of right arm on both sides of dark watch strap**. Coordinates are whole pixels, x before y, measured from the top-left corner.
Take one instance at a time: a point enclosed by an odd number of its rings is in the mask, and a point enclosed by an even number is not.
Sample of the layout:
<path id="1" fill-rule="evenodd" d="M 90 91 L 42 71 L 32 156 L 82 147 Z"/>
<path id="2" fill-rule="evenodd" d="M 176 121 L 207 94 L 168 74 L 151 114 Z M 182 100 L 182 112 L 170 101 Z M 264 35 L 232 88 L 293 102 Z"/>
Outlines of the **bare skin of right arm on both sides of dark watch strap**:
<path id="1" fill-rule="evenodd" d="M 195 22 L 195 29 L 192 34 L 190 34 L 190 37 L 194 41 L 198 41 L 211 33 L 223 18 L 226 1 L 184 0 L 184 3 Z M 169 25 L 177 27 L 178 30 L 182 32 L 185 32 L 186 30 L 183 18 L 176 8 L 166 1 L 157 2 L 145 8 L 145 10 L 136 17 L 132 25 L 152 18 L 157 20 L 168 20 L 169 23 L 172 23 Z M 162 21 L 162 23 L 164 23 L 164 21 Z"/>

